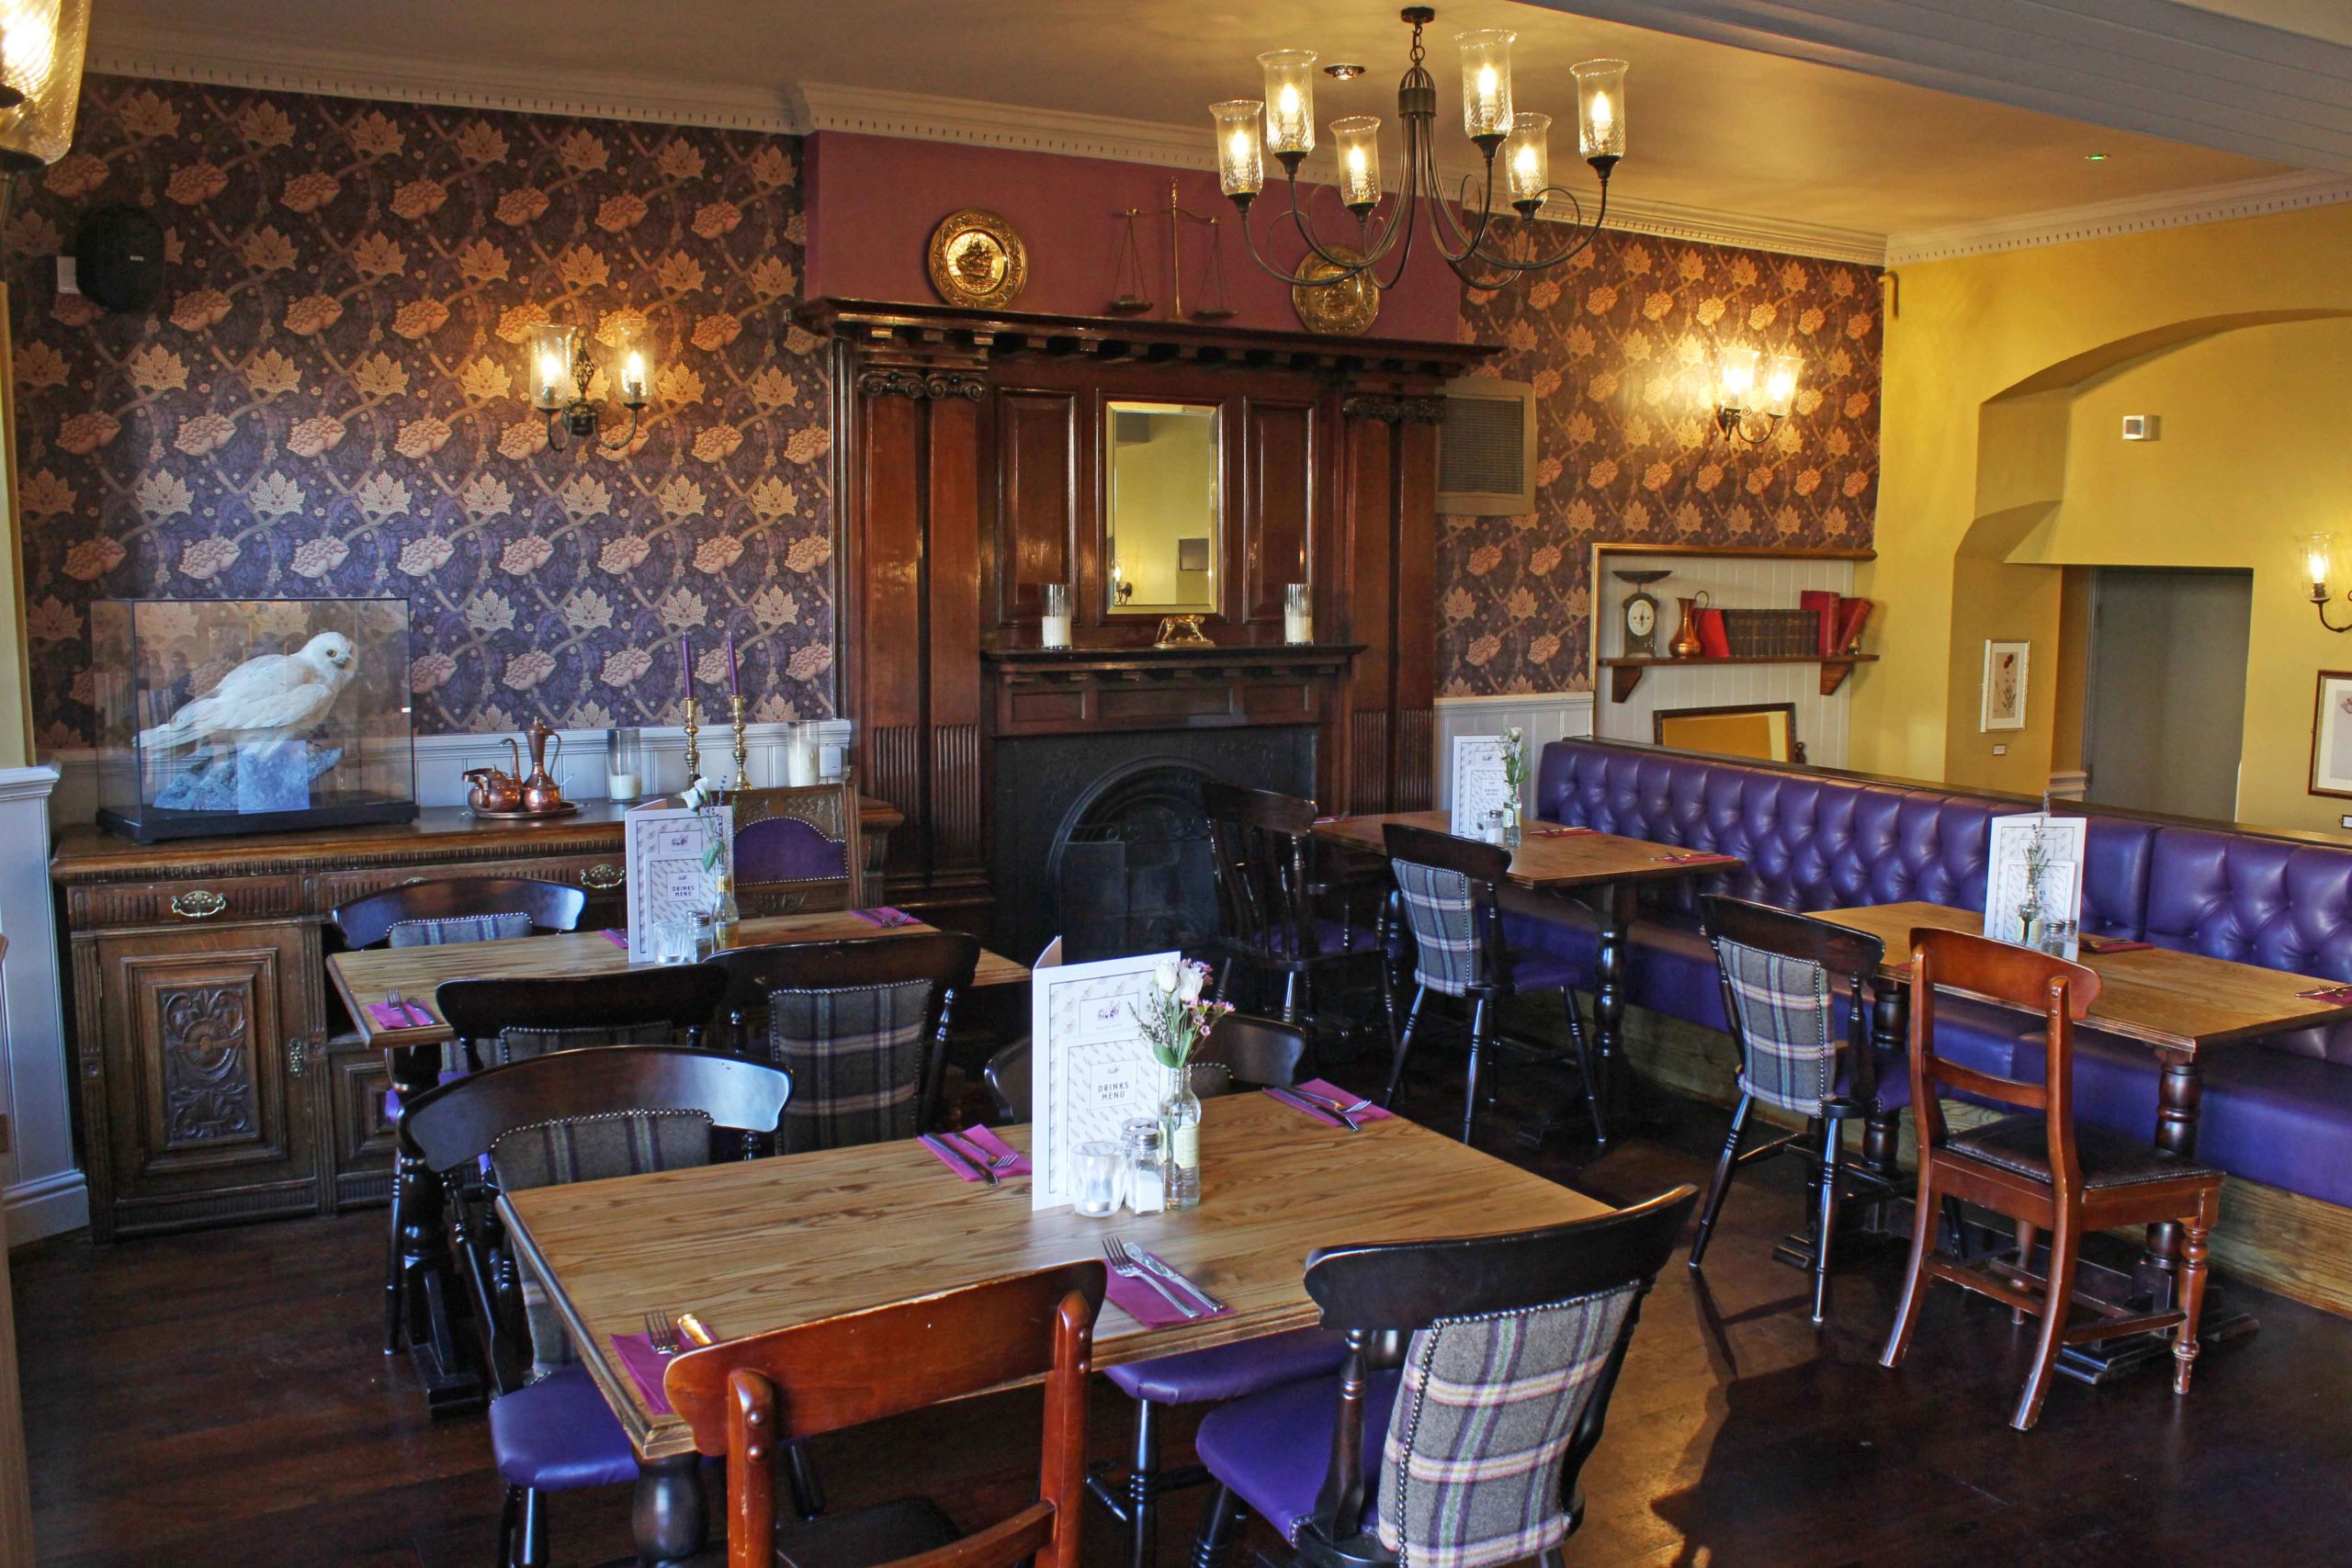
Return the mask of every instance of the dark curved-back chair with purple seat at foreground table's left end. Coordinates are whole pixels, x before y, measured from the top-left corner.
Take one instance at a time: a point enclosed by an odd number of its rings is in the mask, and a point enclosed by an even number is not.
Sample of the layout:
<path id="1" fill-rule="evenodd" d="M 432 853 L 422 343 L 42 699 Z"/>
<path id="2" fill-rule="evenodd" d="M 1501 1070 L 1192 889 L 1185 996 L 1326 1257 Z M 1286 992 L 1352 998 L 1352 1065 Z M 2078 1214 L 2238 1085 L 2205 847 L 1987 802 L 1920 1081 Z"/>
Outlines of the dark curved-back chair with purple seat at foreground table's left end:
<path id="1" fill-rule="evenodd" d="M 586 1046 L 442 1084 L 402 1117 L 402 1147 L 447 1187 L 487 1338 L 489 1446 L 506 1481 L 501 1568 L 548 1561 L 548 1493 L 635 1481 L 637 1458 L 492 1204 L 501 1192 L 703 1166 L 722 1131 L 750 1154 L 790 1091 L 783 1072 L 713 1051 Z"/>

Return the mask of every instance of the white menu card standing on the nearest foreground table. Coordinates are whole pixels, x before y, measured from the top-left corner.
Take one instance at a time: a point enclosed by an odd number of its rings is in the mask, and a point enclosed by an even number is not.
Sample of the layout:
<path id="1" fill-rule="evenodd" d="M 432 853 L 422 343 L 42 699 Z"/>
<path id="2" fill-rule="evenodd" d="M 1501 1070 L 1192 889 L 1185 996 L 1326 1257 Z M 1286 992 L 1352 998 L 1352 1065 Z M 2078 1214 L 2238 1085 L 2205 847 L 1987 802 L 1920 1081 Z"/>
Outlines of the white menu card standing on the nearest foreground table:
<path id="1" fill-rule="evenodd" d="M 1077 1145 L 1120 1143 L 1134 1117 L 1160 1114 L 1162 1070 L 1138 1011 L 1157 997 L 1152 969 L 1174 952 L 1030 971 L 1030 1208 L 1061 1208 L 1077 1187 Z"/>

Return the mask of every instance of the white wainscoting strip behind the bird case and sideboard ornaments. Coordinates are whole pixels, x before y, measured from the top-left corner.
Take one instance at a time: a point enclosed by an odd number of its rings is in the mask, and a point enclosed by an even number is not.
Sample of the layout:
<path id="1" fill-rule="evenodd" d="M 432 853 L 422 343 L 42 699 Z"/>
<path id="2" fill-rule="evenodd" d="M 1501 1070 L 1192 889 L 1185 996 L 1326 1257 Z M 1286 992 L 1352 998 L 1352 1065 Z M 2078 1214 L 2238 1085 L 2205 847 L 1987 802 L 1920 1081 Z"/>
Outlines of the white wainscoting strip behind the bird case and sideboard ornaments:
<path id="1" fill-rule="evenodd" d="M 482 733 L 482 736 L 416 736 L 416 804 L 419 806 L 463 806 L 466 804 L 466 769 L 482 766 L 508 766 L 510 752 L 506 741 L 513 731 Z M 602 729 L 564 729 L 562 748 L 555 750 L 555 783 L 562 785 L 567 799 L 590 802 L 604 799 L 604 731 Z M 640 729 L 647 750 L 647 773 L 644 792 L 661 795 L 666 790 L 682 790 L 687 783 L 687 731 L 677 726 L 663 729 Z M 746 724 L 743 741 L 748 748 L 750 780 L 755 788 L 769 788 L 783 783 L 783 724 Z M 849 755 L 851 724 L 849 719 L 821 719 L 816 724 L 818 766 L 828 773 L 842 766 Z M 520 736 L 517 736 L 520 743 Z M 724 724 L 701 726 L 696 733 L 701 745 L 703 778 L 731 778 L 734 776 L 734 731 Z M 52 816 L 59 823 L 87 823 L 99 811 L 99 773 L 96 757 L 87 748 L 54 752 L 47 762 L 54 762 L 64 778 L 56 785 L 56 802 Z M 524 766 L 529 766 L 529 755 L 524 755 Z"/>

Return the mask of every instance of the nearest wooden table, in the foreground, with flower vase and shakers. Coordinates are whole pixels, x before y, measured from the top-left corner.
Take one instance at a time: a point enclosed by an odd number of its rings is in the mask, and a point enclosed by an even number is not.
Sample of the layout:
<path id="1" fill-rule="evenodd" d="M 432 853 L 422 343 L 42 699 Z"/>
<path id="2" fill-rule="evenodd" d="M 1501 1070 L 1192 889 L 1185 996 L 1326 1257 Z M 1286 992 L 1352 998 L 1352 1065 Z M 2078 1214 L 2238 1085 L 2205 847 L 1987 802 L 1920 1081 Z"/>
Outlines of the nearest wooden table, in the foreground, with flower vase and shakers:
<path id="1" fill-rule="evenodd" d="M 1028 1152 L 1028 1126 L 1000 1131 Z M 1105 1234 L 1143 1241 L 1232 1307 L 1143 1328 L 1105 1305 L 1094 1361 L 1115 1366 L 1315 1324 L 1301 1269 L 1317 1246 L 1609 1211 L 1402 1117 L 1350 1133 L 1244 1093 L 1209 1100 L 1200 1133 L 1200 1208 L 1150 1218 L 1035 1213 L 1028 1178 L 960 1182 L 915 1143 L 536 1187 L 499 1211 L 637 1448 L 642 1561 L 696 1552 L 708 1519 L 684 1422 L 647 1410 L 607 1340 L 642 1333 L 652 1307 L 694 1309 L 736 1338 L 1101 1258 Z"/>

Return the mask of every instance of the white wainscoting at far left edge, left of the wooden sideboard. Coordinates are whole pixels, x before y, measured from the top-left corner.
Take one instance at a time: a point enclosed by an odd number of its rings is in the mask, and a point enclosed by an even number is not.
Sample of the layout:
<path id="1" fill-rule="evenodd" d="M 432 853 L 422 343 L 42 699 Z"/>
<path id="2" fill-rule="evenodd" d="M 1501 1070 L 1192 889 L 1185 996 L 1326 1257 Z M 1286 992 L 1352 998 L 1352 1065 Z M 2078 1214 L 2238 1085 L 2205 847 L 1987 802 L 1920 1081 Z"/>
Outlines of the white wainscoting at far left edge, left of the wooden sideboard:
<path id="1" fill-rule="evenodd" d="M 89 1187 L 73 1164 L 73 1053 L 49 898 L 49 797 L 56 769 L 0 769 L 0 1201 L 12 1244 L 89 1225 Z"/>

